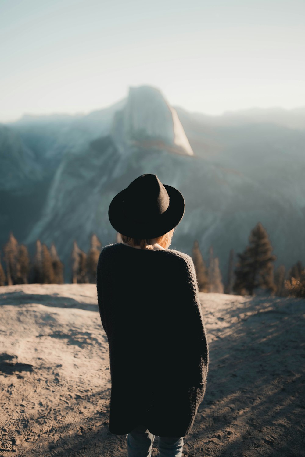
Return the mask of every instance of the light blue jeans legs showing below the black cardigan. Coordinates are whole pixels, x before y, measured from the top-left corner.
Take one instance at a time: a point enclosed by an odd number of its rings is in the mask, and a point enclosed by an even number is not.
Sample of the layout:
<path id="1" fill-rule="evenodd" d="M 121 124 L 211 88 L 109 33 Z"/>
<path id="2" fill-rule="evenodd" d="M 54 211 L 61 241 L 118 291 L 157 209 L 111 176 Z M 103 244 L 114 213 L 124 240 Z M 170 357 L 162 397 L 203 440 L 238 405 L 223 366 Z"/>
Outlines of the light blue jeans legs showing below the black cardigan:
<path id="1" fill-rule="evenodd" d="M 155 435 L 139 425 L 126 436 L 128 457 L 150 457 Z M 160 457 L 182 457 L 183 436 L 159 436 Z"/>

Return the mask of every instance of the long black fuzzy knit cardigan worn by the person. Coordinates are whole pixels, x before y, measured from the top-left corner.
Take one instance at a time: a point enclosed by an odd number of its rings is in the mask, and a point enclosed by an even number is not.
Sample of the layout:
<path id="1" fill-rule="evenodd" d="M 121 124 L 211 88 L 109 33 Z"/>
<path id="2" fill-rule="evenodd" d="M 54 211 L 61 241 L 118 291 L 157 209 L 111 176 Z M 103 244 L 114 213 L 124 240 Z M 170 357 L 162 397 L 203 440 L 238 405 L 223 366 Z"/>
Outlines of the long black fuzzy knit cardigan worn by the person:
<path id="1" fill-rule="evenodd" d="M 109 344 L 110 432 L 142 424 L 156 436 L 189 434 L 209 364 L 192 257 L 109 244 L 96 288 Z"/>

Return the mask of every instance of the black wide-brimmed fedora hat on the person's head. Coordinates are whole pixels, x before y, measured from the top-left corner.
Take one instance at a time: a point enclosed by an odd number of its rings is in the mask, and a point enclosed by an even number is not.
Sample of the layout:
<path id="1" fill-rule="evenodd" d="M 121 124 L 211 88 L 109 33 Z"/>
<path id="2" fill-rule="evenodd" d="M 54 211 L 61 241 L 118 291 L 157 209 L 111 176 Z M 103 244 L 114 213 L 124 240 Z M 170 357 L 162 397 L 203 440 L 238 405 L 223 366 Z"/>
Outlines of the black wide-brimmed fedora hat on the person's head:
<path id="1" fill-rule="evenodd" d="M 175 187 L 145 173 L 120 191 L 110 203 L 108 217 L 118 233 L 137 239 L 166 234 L 183 218 L 185 201 Z"/>

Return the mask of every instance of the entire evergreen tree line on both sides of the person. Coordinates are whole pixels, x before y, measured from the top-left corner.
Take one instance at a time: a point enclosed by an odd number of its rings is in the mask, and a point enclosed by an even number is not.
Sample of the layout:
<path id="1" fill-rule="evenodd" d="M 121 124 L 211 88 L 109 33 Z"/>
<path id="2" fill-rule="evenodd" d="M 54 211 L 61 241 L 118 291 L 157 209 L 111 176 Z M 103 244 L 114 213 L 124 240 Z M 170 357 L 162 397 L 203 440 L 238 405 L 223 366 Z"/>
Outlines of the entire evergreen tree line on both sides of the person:
<path id="1" fill-rule="evenodd" d="M 237 262 L 234 262 L 234 250 L 230 250 L 227 281 L 224 285 L 219 258 L 214 257 L 213 246 L 209 248 L 209 265 L 206 266 L 198 241 L 194 241 L 192 257 L 200 292 L 253 295 L 263 291 L 280 297 L 305 297 L 305 268 L 300 260 L 288 271 L 284 265 L 278 266 L 274 271 L 273 262 L 276 256 L 271 254 L 273 247 L 260 222 L 251 230 L 249 242 L 244 252 L 237 254 Z M 86 253 L 78 247 L 76 241 L 73 243 L 72 283 L 96 283 L 96 267 L 102 244 L 95 234 L 91 235 L 90 244 Z M 19 245 L 11 232 L 3 246 L 3 260 L 6 272 L 1 264 L 0 253 L 0 286 L 64 283 L 64 264 L 59 259 L 54 243 L 48 249 L 46 244 L 37 240 L 36 252 L 31 259 L 27 247 L 24 244 Z"/>

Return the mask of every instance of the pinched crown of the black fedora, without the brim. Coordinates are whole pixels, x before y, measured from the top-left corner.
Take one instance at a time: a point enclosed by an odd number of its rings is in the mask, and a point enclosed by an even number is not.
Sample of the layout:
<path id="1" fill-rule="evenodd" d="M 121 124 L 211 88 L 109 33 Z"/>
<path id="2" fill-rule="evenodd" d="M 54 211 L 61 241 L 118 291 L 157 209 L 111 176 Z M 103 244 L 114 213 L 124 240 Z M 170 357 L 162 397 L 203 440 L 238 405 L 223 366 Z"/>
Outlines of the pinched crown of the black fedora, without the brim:
<path id="1" fill-rule="evenodd" d="M 123 213 L 135 220 L 150 220 L 164 214 L 170 206 L 170 197 L 157 175 L 145 173 L 127 187 Z"/>

